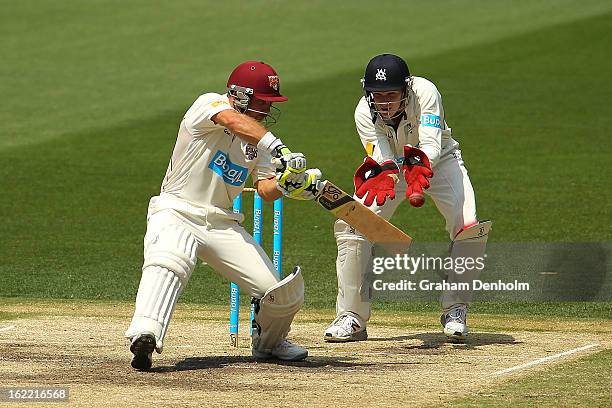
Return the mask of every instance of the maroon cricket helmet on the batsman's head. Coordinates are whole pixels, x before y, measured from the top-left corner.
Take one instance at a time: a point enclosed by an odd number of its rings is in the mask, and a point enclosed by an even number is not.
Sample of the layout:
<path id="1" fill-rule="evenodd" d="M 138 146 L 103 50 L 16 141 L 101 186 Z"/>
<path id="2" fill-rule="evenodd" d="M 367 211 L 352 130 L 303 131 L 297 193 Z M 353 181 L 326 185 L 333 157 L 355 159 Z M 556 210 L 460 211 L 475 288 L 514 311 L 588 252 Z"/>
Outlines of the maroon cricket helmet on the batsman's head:
<path id="1" fill-rule="evenodd" d="M 270 65 L 260 61 L 246 61 L 238 65 L 227 80 L 227 87 L 246 88 L 247 94 L 268 102 L 285 102 L 280 94 L 278 74 Z"/>

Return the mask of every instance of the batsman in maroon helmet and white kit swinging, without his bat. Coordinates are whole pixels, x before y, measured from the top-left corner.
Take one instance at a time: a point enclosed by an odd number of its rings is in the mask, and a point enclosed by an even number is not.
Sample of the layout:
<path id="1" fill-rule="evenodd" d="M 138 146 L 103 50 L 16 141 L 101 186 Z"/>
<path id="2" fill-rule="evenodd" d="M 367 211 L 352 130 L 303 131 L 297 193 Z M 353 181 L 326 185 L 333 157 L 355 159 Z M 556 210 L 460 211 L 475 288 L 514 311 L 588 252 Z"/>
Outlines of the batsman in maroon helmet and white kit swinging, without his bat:
<path id="1" fill-rule="evenodd" d="M 144 264 L 130 339 L 132 367 L 149 369 L 197 258 L 255 299 L 252 354 L 257 359 L 302 360 L 304 348 L 286 337 L 304 302 L 299 267 L 283 280 L 265 251 L 240 226 L 233 199 L 252 176 L 259 195 L 313 199 L 321 172 L 307 169 L 266 126 L 280 94 L 276 71 L 247 61 L 229 76 L 227 93 L 205 93 L 185 113 L 161 184 L 151 198 L 144 237 Z M 272 113 L 271 113 L 272 112 Z"/>

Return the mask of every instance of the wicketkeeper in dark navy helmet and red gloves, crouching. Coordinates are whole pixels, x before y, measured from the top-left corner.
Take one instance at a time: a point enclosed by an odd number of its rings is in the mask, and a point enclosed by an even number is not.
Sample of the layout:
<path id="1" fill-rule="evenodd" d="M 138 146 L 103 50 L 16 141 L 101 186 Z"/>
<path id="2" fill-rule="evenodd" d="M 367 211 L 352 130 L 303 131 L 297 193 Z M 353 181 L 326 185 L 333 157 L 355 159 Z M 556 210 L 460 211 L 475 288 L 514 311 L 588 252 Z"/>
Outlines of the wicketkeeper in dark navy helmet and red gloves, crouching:
<path id="1" fill-rule="evenodd" d="M 450 256 L 482 256 L 491 222 L 479 222 L 476 217 L 472 183 L 459 144 L 446 124 L 436 86 L 412 76 L 406 62 L 392 54 L 369 61 L 362 85 L 364 96 L 355 109 L 355 125 L 367 156 L 355 172 L 355 199 L 388 220 L 405 198 L 420 207 L 427 194 L 446 220 Z M 413 217 L 418 216 L 416 211 Z M 325 330 L 324 339 L 366 340 L 371 311 L 366 277 L 371 272 L 372 243 L 342 220 L 336 221 L 334 235 L 338 246 L 336 319 Z M 477 272 L 451 272 L 446 280 L 469 281 Z M 441 324 L 448 337 L 467 336 L 470 299 L 465 291 L 442 293 Z"/>

